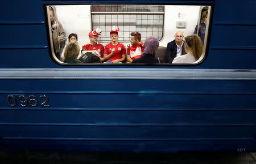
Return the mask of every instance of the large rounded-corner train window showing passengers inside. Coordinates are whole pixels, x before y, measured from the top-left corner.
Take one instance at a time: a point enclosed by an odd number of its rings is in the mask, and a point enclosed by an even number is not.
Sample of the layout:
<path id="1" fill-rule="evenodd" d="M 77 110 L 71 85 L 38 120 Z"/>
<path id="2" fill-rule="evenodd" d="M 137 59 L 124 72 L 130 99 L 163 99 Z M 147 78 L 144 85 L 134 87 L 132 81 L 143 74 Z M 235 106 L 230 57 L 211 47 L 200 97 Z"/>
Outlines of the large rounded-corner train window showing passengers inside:
<path id="1" fill-rule="evenodd" d="M 154 53 L 158 60 L 153 63 L 193 65 L 206 57 L 211 6 L 55 5 L 46 6 L 46 10 L 52 57 L 61 64 L 133 65 L 137 58 L 142 57 L 143 43 L 151 36 L 159 42 Z M 112 36 L 112 31 L 118 33 L 118 37 Z M 189 47 L 191 38 L 187 36 L 192 35 L 201 42 L 201 46 L 195 45 L 197 48 L 200 46 L 197 53 Z M 118 47 L 112 52 L 114 48 L 107 45 L 112 44 L 115 37 L 123 49 Z M 135 43 L 132 39 L 139 41 L 135 49 L 131 48 Z M 72 41 L 76 44 L 72 45 Z M 76 53 L 71 53 L 76 55 L 65 53 L 67 46 L 72 46 Z"/>

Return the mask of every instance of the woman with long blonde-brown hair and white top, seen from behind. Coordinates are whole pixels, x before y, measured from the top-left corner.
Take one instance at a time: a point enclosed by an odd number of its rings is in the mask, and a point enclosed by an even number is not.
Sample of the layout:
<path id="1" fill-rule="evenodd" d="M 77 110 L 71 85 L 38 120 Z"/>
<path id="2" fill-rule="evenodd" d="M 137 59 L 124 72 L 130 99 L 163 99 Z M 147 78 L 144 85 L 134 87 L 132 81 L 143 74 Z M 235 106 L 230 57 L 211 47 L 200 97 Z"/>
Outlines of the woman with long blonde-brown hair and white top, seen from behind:
<path id="1" fill-rule="evenodd" d="M 201 57 L 203 45 L 199 36 L 192 34 L 185 37 L 184 44 L 187 54 L 174 58 L 172 63 L 193 63 Z"/>

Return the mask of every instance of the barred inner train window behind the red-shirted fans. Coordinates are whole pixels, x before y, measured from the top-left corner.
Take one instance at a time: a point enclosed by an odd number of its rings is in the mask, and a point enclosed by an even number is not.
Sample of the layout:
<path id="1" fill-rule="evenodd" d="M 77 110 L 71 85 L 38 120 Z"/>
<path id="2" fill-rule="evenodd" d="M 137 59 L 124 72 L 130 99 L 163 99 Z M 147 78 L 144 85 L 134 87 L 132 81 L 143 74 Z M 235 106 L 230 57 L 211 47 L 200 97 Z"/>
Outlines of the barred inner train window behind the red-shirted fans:
<path id="1" fill-rule="evenodd" d="M 93 29 L 100 27 L 102 35 L 99 41 L 111 41 L 110 31 L 118 25 L 119 41 L 130 41 L 131 32 L 139 32 L 142 40 L 148 36 L 163 37 L 163 5 L 92 5 Z"/>

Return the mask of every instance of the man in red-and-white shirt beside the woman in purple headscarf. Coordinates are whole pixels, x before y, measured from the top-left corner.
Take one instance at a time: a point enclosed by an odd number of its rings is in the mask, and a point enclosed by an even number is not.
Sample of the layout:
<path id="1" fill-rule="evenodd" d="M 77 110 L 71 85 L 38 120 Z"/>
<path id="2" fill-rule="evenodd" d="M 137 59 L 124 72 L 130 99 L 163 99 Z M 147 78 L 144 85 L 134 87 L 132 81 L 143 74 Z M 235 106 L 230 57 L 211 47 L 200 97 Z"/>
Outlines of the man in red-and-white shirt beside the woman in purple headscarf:
<path id="1" fill-rule="evenodd" d="M 131 44 L 127 47 L 126 63 L 132 63 L 134 59 L 141 58 L 143 53 L 143 43 L 141 42 L 141 34 L 139 32 L 131 33 Z"/>

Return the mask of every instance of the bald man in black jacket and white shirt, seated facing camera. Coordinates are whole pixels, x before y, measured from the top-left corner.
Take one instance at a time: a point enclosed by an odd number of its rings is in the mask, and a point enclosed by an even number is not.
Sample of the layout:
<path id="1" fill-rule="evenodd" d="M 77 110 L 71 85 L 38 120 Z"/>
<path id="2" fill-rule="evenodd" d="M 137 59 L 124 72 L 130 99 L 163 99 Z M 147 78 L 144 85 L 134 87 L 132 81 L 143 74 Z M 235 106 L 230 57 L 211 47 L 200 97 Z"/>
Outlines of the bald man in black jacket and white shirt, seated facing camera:
<path id="1" fill-rule="evenodd" d="M 168 42 L 166 48 L 166 63 L 172 63 L 174 58 L 185 54 L 183 43 L 183 32 L 177 31 L 175 33 L 175 40 Z"/>

